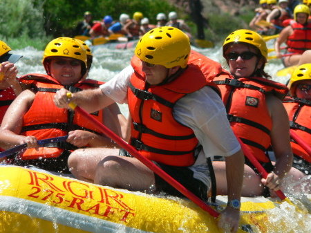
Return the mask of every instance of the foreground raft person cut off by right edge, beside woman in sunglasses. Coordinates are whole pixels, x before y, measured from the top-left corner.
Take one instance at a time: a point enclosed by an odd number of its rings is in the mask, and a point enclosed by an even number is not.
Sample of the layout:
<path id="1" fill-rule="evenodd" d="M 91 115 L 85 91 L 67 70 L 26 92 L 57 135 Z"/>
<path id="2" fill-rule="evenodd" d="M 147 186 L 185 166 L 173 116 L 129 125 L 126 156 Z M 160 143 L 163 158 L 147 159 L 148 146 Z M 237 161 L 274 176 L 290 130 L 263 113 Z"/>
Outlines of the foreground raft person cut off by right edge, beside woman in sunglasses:
<path id="1" fill-rule="evenodd" d="M 290 118 L 290 129 L 296 133 L 303 142 L 311 146 L 311 64 L 302 64 L 292 73 L 289 88 L 291 97 L 283 101 Z M 309 155 L 294 140 L 290 142 L 294 153 L 293 167 L 303 174 L 311 174 L 311 155 Z"/>

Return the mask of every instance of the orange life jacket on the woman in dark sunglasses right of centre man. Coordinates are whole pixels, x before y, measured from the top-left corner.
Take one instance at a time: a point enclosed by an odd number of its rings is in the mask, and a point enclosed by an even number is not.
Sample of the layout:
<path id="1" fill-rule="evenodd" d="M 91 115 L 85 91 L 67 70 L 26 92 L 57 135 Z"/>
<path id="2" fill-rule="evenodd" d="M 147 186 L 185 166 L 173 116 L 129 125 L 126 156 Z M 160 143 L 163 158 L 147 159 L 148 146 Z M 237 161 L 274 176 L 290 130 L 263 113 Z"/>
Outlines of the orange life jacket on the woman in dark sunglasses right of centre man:
<path id="1" fill-rule="evenodd" d="M 271 93 L 283 100 L 288 93 L 288 88 L 262 77 L 238 80 L 233 77 L 225 80 L 216 77 L 214 82 L 220 88 L 234 133 L 249 147 L 257 160 L 269 162 L 265 151 L 271 142 L 272 119 L 265 96 Z"/>

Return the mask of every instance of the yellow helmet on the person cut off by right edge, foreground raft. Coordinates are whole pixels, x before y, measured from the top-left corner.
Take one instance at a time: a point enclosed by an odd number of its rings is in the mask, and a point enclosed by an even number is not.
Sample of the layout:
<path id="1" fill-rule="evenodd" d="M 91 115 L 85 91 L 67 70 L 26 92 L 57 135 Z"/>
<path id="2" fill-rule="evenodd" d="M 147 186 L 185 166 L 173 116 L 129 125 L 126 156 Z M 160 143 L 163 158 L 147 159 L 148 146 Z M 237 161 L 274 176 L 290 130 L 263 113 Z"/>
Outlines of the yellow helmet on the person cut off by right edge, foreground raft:
<path id="1" fill-rule="evenodd" d="M 296 85 L 294 85 L 294 83 L 301 80 L 311 80 L 311 64 L 302 64 L 301 66 L 295 68 L 292 73 L 288 88 L 290 88 L 290 95 L 293 97 L 296 97 Z"/>

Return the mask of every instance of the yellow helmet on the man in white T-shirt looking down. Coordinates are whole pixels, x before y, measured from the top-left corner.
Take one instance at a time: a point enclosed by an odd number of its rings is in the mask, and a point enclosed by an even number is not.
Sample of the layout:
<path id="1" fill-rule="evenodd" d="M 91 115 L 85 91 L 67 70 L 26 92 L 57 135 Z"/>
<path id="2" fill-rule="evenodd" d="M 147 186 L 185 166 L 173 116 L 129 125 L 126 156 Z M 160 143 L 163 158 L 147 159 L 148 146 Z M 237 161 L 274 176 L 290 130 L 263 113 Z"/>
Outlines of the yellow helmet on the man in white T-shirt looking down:
<path id="1" fill-rule="evenodd" d="M 184 32 L 178 28 L 164 26 L 147 32 L 138 41 L 135 55 L 144 62 L 166 68 L 185 68 L 190 50 L 189 37 Z"/>

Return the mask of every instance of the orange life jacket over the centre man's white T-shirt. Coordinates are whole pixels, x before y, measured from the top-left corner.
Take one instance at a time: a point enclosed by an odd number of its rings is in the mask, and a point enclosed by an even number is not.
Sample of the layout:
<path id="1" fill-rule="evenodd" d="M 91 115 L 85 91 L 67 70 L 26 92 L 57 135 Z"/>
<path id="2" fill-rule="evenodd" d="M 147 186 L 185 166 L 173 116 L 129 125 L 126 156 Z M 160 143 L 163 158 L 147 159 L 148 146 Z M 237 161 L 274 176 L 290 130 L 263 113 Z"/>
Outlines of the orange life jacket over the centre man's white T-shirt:
<path id="1" fill-rule="evenodd" d="M 135 72 L 128 91 L 132 117 L 130 144 L 149 160 L 172 166 L 190 166 L 198 154 L 194 131 L 173 118 L 173 106 L 185 95 L 211 86 L 216 75 L 226 75 L 220 64 L 191 51 L 188 66 L 176 79 L 160 86 L 146 86 L 141 61 L 133 57 Z"/>

